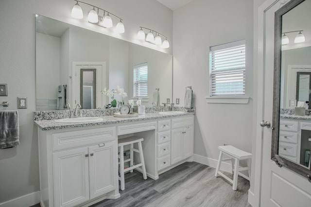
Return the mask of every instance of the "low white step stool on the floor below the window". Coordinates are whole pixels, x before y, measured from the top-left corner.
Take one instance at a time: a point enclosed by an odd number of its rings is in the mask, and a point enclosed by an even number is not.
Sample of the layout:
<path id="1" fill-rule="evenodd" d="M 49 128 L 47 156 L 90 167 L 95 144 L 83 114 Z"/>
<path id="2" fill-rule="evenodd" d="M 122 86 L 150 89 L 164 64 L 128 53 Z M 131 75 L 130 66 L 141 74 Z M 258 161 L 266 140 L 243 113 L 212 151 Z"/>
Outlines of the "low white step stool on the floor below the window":
<path id="1" fill-rule="evenodd" d="M 232 189 L 237 190 L 238 175 L 241 175 L 242 177 L 244 177 L 247 180 L 249 180 L 249 178 L 250 178 L 252 154 L 244 152 L 244 151 L 242 151 L 238 148 L 235 148 L 231 145 L 219 146 L 218 149 L 220 150 L 220 153 L 219 153 L 215 177 L 218 177 L 218 174 L 223 176 L 226 180 L 228 180 L 230 183 L 232 183 Z M 229 156 L 230 158 L 223 159 L 224 154 Z M 247 159 L 247 167 L 241 168 L 239 166 L 240 160 L 244 160 L 244 159 Z M 229 177 L 227 177 L 224 173 L 219 172 L 221 163 L 222 163 L 222 161 L 225 161 L 225 160 L 231 161 L 233 180 L 231 180 Z M 240 171 L 248 171 L 248 176 L 240 173 Z"/>

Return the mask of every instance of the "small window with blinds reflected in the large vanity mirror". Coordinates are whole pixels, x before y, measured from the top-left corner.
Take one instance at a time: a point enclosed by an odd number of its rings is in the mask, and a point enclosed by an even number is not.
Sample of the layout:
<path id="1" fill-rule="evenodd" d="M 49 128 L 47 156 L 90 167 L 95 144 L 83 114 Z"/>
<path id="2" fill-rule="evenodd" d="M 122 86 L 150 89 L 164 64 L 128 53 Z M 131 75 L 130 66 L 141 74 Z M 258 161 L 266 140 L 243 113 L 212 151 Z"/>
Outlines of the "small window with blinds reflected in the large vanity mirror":
<path id="1" fill-rule="evenodd" d="M 134 97 L 148 96 L 148 64 L 134 66 Z"/>

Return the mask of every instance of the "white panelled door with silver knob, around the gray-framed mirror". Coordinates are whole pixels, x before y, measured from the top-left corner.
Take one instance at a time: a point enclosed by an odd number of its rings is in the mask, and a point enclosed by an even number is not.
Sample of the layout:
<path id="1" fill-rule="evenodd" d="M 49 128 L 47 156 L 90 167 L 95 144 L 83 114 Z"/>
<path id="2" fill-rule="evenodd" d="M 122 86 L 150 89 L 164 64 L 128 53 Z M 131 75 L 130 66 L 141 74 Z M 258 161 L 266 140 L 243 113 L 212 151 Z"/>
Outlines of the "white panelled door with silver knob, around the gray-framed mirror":
<path id="1" fill-rule="evenodd" d="M 271 2 L 271 4 L 267 4 Z M 276 2 L 276 3 L 275 3 Z M 274 4 L 275 3 L 275 4 Z M 274 15 L 282 6 L 280 2 L 267 0 L 260 22 L 259 14 L 259 75 L 258 75 L 258 132 L 257 143 L 261 143 L 261 195 L 259 206 L 261 207 L 306 207 L 310 206 L 311 188 L 306 178 L 288 170 L 280 168 L 271 160 L 271 128 L 261 128 L 259 122 L 272 121 L 273 116 L 273 81 L 274 81 Z M 265 11 L 264 11 L 265 10 Z M 261 24 L 260 24 L 261 23 Z M 260 28 L 260 26 L 262 26 Z M 261 34 L 260 34 L 261 33 Z M 262 35 L 262 36 L 261 36 Z M 260 56 L 260 50 L 262 56 Z M 274 123 L 272 123 L 272 126 Z M 257 153 L 258 155 L 258 153 Z M 258 162 L 260 160 L 256 160 Z M 257 165 L 258 166 L 258 165 Z M 260 167 L 260 166 L 259 166 Z M 259 169 L 256 169 L 259 170 Z M 255 172 L 256 173 L 256 172 Z M 255 175 L 256 176 L 256 175 Z M 255 178 L 255 185 L 256 185 Z"/>

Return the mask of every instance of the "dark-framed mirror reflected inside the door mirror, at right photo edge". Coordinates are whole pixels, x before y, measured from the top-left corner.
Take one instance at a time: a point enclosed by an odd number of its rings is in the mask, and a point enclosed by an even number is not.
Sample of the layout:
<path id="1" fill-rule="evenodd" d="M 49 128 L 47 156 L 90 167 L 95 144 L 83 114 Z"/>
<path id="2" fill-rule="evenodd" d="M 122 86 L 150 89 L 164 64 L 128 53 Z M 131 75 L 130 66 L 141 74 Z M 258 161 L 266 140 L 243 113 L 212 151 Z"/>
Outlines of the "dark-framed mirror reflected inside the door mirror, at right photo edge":
<path id="1" fill-rule="evenodd" d="M 296 100 L 303 102 L 307 109 L 311 109 L 310 103 L 310 81 L 311 72 L 297 72 Z"/>

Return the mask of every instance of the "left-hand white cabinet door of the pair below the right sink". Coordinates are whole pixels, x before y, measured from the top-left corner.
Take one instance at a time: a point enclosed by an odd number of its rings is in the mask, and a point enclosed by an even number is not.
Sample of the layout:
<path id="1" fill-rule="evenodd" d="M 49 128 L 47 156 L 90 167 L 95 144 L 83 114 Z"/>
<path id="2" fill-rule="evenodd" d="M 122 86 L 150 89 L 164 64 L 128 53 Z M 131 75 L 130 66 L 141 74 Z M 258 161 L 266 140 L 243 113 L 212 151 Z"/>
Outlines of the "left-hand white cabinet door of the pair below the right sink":
<path id="1" fill-rule="evenodd" d="M 183 159 L 183 128 L 172 129 L 171 165 Z"/>

